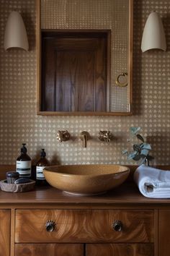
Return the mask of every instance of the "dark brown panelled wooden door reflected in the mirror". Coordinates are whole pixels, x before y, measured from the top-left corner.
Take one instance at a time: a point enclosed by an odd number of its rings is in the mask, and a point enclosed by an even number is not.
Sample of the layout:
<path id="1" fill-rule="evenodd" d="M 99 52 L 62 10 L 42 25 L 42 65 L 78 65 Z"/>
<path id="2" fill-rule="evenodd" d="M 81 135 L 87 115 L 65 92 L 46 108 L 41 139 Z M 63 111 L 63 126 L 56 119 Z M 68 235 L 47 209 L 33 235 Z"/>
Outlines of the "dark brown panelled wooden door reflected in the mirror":
<path id="1" fill-rule="evenodd" d="M 107 111 L 108 33 L 42 32 L 42 111 Z"/>

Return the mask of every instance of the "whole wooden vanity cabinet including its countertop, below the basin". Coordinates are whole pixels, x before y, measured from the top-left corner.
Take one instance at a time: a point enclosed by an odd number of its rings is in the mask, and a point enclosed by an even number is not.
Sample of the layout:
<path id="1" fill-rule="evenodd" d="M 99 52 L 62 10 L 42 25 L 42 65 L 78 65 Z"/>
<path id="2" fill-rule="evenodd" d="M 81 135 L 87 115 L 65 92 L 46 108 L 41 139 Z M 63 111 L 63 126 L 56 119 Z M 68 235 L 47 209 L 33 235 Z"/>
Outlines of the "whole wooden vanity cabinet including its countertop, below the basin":
<path id="1" fill-rule="evenodd" d="M 133 184 L 96 197 L 0 191 L 0 256 L 167 256 L 169 217 L 170 200 L 143 197 Z"/>

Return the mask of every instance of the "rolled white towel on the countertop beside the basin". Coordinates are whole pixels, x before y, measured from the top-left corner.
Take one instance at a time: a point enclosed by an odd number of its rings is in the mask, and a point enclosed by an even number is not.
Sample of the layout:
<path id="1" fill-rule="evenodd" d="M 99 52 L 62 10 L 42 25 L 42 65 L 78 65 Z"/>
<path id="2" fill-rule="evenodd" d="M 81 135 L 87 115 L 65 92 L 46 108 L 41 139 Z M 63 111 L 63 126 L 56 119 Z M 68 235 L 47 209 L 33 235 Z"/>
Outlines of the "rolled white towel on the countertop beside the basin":
<path id="1" fill-rule="evenodd" d="M 143 164 L 135 170 L 133 177 L 145 197 L 170 198 L 170 171 Z"/>

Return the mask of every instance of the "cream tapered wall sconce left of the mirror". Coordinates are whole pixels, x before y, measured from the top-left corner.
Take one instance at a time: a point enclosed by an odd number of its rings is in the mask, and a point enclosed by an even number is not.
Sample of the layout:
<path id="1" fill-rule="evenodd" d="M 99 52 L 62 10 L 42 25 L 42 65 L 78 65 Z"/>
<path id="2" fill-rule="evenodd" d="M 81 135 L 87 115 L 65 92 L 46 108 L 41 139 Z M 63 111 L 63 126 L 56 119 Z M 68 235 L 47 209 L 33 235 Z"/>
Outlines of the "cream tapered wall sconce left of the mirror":
<path id="1" fill-rule="evenodd" d="M 6 22 L 4 48 L 22 48 L 28 51 L 27 32 L 19 12 L 11 12 Z"/>

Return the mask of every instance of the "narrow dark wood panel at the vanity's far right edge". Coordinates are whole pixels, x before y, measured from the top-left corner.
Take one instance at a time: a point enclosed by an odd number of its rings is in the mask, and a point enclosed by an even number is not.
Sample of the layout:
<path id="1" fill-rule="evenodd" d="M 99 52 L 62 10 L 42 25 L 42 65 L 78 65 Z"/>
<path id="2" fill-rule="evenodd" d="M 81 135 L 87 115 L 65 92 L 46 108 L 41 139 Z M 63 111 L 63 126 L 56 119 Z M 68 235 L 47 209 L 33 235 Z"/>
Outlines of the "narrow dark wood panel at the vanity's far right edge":
<path id="1" fill-rule="evenodd" d="M 159 256 L 170 253 L 170 210 L 159 210 Z"/>

